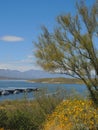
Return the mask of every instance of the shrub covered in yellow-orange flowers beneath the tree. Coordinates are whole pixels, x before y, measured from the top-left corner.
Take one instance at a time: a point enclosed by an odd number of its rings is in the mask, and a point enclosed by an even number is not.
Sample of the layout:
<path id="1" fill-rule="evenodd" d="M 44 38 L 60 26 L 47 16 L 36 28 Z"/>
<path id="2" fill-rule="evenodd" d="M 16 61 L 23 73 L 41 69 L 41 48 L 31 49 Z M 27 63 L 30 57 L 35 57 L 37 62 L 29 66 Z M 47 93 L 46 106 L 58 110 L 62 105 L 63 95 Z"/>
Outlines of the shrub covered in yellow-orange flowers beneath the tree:
<path id="1" fill-rule="evenodd" d="M 98 108 L 91 100 L 63 101 L 48 116 L 44 130 L 98 130 Z"/>

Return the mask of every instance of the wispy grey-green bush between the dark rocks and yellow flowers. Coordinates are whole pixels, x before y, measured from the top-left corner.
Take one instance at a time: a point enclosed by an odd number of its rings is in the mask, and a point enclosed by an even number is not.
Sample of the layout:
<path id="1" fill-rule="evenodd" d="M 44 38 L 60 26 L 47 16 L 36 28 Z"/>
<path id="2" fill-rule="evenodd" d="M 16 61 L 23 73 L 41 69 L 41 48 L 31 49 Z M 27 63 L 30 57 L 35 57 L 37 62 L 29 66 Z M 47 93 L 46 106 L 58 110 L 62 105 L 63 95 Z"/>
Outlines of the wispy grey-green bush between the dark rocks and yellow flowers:
<path id="1" fill-rule="evenodd" d="M 55 107 L 65 98 L 65 90 L 58 89 L 54 94 L 48 94 L 47 91 L 36 93 L 36 102 L 44 114 L 50 114 Z"/>

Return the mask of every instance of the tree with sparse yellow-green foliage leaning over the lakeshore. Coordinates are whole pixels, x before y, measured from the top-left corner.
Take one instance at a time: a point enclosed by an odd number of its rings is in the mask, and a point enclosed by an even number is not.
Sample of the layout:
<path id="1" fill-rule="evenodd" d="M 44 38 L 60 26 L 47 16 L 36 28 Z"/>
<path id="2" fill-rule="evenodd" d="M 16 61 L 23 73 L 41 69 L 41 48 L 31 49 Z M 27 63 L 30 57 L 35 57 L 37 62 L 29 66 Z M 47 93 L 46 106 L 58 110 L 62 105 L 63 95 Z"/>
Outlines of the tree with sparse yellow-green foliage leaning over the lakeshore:
<path id="1" fill-rule="evenodd" d="M 77 3 L 77 14 L 60 15 L 58 26 L 43 33 L 35 43 L 37 63 L 45 70 L 80 78 L 98 103 L 98 7 Z M 96 39 L 96 40 L 94 40 Z"/>

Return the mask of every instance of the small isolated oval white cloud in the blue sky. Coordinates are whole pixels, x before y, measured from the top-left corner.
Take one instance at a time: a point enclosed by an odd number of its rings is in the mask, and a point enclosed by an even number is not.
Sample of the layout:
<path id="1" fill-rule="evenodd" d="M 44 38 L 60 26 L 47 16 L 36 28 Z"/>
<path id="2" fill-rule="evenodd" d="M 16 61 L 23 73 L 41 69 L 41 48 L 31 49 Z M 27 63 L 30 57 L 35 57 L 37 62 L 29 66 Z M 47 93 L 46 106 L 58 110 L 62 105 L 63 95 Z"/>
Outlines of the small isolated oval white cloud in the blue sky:
<path id="1" fill-rule="evenodd" d="M 17 37 L 17 36 L 3 36 L 3 37 L 0 37 L 0 40 L 6 41 L 6 42 L 19 42 L 19 41 L 24 41 L 24 38 Z"/>

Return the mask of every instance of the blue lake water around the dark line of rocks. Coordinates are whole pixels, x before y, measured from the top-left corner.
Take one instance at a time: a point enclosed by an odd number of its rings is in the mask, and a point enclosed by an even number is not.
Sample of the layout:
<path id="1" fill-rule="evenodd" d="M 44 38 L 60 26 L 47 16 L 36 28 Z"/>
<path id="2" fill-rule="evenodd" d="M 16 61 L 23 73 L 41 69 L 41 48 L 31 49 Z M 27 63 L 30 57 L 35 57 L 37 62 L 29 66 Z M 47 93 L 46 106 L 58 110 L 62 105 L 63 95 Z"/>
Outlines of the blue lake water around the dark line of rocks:
<path id="1" fill-rule="evenodd" d="M 48 84 L 48 83 L 31 83 L 27 81 L 19 80 L 0 80 L 0 89 L 12 89 L 12 88 L 46 88 L 49 93 L 54 93 L 58 88 L 64 88 L 67 91 L 72 89 L 76 90 L 80 94 L 86 93 L 86 86 L 83 84 Z M 26 95 L 28 98 L 34 98 L 34 92 L 30 92 Z M 24 93 L 1 95 L 0 101 L 2 100 L 15 100 L 22 99 L 25 97 Z"/>

